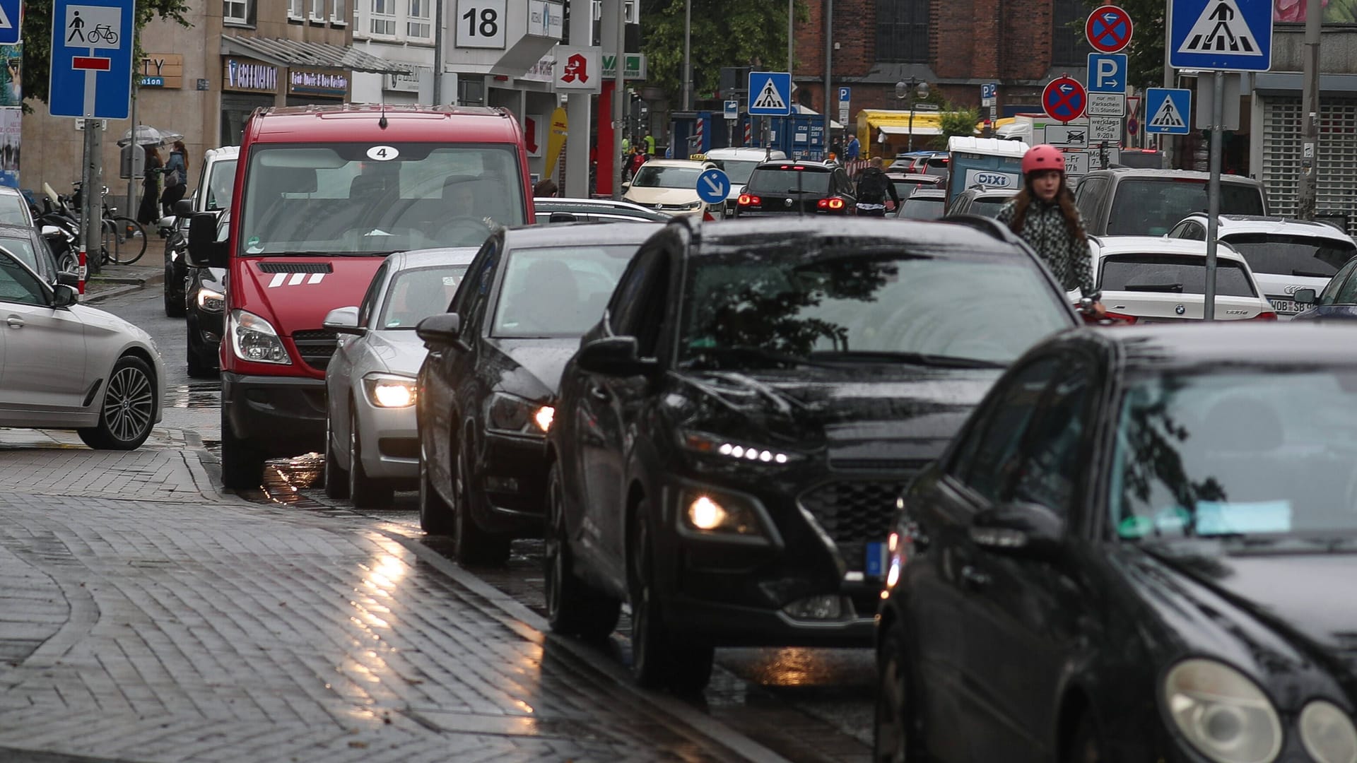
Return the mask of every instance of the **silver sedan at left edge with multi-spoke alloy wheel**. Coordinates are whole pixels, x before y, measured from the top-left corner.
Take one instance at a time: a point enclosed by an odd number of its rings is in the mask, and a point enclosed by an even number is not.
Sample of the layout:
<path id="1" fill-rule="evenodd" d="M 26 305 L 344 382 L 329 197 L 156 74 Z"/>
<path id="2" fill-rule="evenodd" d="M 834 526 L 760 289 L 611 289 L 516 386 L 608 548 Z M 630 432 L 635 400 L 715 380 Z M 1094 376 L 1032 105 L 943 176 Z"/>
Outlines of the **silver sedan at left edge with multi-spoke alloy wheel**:
<path id="1" fill-rule="evenodd" d="M 160 352 L 77 300 L 0 247 L 0 426 L 75 429 L 91 448 L 130 451 L 160 421 Z"/>

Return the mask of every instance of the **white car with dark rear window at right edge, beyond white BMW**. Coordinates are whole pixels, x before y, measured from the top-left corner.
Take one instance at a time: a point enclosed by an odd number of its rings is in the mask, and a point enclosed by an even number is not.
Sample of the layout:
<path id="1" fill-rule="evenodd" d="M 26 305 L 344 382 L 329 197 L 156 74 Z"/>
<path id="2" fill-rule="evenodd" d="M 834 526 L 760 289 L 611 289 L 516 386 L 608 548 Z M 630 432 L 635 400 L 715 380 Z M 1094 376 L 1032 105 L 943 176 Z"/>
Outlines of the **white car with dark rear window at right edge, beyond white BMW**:
<path id="1" fill-rule="evenodd" d="M 1206 215 L 1189 215 L 1168 236 L 1206 240 Z M 1296 292 L 1322 292 L 1334 273 L 1357 254 L 1352 236 L 1333 225 L 1307 220 L 1221 215 L 1216 238 L 1244 255 L 1280 318 L 1308 310 L 1292 299 Z"/>

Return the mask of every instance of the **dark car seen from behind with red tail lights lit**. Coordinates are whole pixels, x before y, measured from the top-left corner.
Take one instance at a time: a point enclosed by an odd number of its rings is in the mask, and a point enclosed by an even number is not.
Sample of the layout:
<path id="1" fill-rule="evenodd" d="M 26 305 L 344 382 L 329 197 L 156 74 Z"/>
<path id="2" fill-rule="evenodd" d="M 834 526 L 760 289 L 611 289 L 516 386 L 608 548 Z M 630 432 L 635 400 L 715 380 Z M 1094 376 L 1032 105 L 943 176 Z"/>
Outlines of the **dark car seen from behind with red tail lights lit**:
<path id="1" fill-rule="evenodd" d="M 854 215 L 848 171 L 824 162 L 779 159 L 754 167 L 735 201 L 735 217 L 787 215 Z"/>

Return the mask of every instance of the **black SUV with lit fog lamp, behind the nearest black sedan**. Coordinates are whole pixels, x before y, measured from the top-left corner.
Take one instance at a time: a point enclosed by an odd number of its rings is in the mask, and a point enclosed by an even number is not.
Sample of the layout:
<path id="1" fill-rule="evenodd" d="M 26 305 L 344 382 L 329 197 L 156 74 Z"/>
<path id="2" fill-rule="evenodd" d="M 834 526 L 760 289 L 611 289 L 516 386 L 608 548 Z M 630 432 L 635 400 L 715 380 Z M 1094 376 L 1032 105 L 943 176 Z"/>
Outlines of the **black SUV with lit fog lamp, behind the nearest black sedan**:
<path id="1" fill-rule="evenodd" d="M 636 680 L 677 690 L 714 646 L 870 644 L 896 497 L 1073 324 L 982 219 L 669 224 L 562 373 L 552 627 L 604 635 L 627 600 Z"/>

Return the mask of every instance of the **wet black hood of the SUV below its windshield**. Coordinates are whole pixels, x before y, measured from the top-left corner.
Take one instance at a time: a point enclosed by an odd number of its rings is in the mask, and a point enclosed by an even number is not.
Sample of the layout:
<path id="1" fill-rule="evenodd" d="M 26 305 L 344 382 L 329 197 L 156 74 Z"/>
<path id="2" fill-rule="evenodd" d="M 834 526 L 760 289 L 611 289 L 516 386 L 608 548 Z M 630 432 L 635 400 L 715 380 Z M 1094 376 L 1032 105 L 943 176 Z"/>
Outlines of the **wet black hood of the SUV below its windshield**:
<path id="1" fill-rule="evenodd" d="M 871 468 L 936 458 L 999 379 L 997 369 L 919 367 L 696 372 L 687 426 L 826 449 L 832 462 Z"/>

